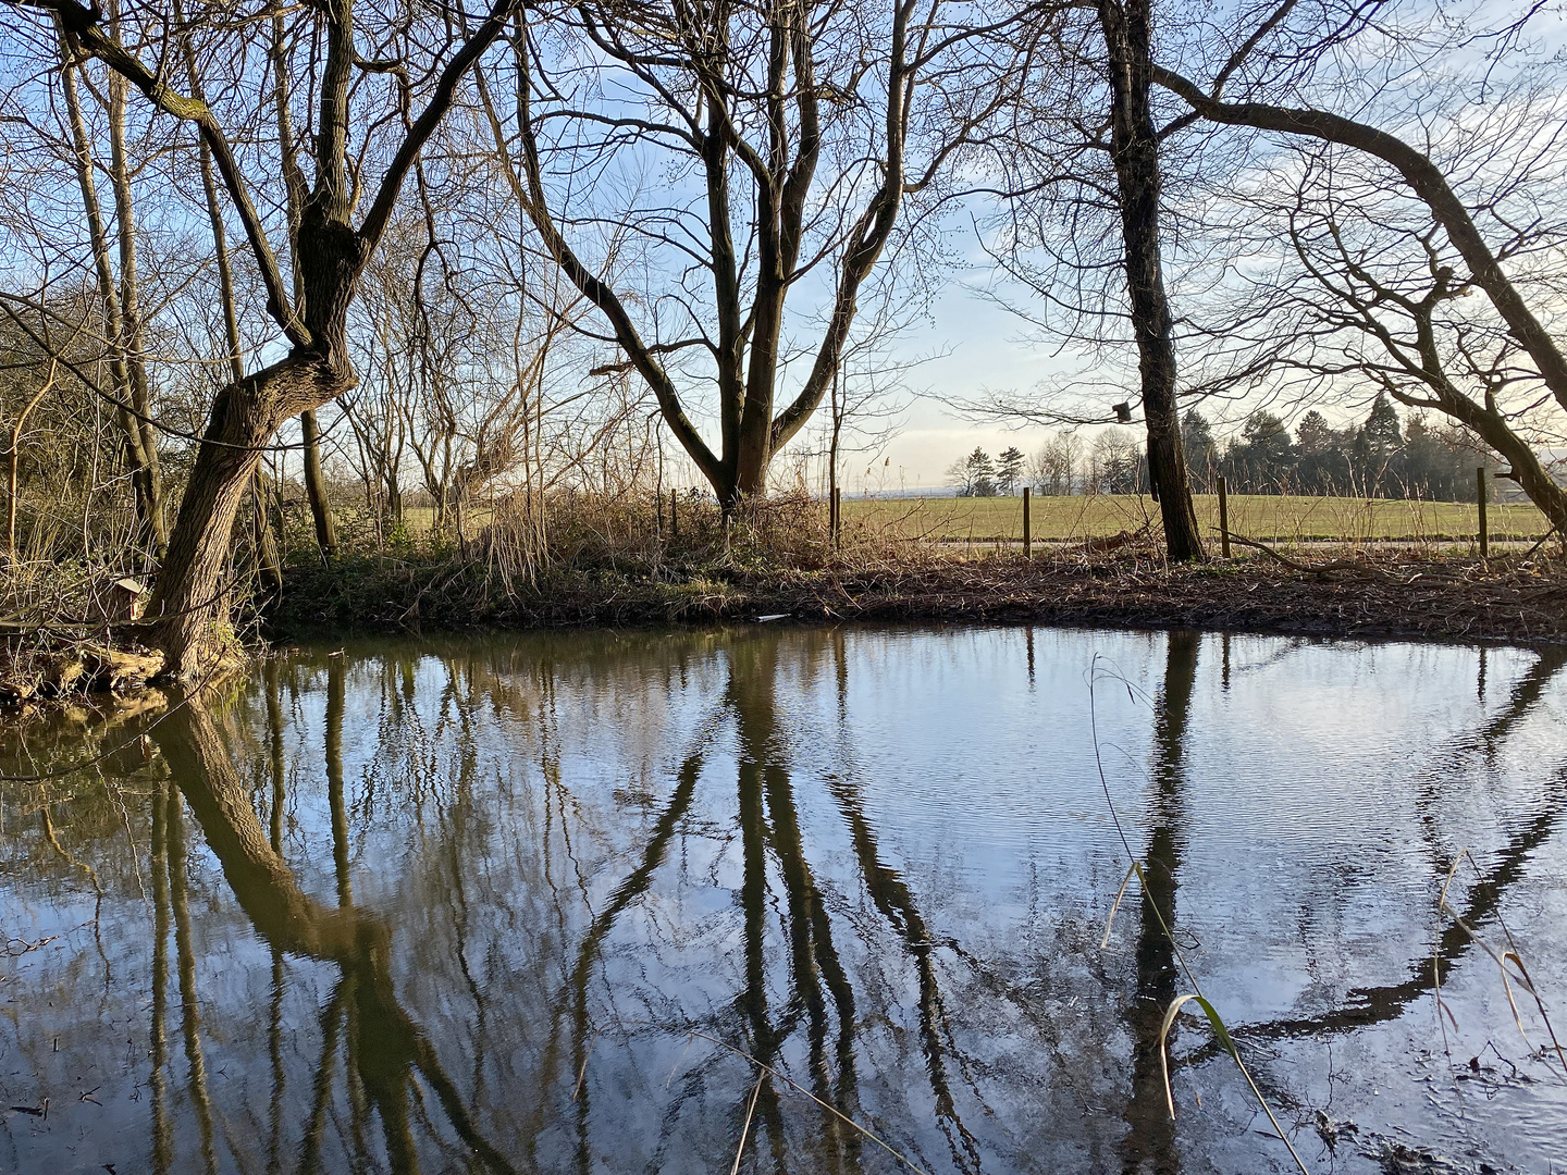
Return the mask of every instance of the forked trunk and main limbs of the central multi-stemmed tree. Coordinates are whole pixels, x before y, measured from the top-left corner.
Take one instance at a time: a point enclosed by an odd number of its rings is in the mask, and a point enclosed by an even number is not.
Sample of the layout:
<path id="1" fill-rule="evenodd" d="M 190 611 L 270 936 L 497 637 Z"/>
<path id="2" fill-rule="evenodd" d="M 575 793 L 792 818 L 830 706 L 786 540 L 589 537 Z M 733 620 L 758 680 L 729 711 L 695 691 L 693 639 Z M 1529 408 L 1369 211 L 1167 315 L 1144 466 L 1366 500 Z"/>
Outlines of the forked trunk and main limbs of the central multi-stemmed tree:
<path id="1" fill-rule="evenodd" d="M 531 114 L 530 38 L 522 13 L 516 17 L 514 41 L 516 118 L 522 149 L 517 160 L 511 157 L 508 135 L 484 88 L 484 77 L 478 75 L 480 99 L 490 122 L 503 177 L 512 186 L 517 202 L 528 213 L 556 265 L 610 323 L 628 367 L 652 390 L 671 434 L 711 484 L 726 519 L 741 498 L 766 492 L 773 456 L 821 404 L 843 360 L 859 310 L 860 287 L 874 269 L 898 221 L 906 185 L 907 103 L 915 94 L 914 81 L 920 69 L 914 44 L 921 41 L 920 38 L 909 41 L 912 13 L 910 5 L 892 6 L 881 183 L 845 233 L 843 252 L 834 276 L 832 309 L 821 342 L 801 390 L 780 412 L 776 410 L 776 393 L 782 367 L 785 301 L 802 273 L 801 243 L 809 227 L 815 224 L 810 221 L 816 207 L 812 191 L 823 146 L 818 110 L 821 88 L 816 83 L 816 47 L 812 41 L 818 33 L 805 11 L 798 6 L 765 8 L 763 19 L 771 44 L 763 83 L 765 92 L 771 96 L 768 110 L 771 135 L 765 147 L 744 144 L 736 138 L 736 125 L 743 119 L 735 116 L 735 91 L 718 78 L 741 58 L 733 56 L 735 50 L 722 34 L 716 33 L 713 42 L 704 47 L 697 58 L 682 63 L 689 74 L 688 92 L 694 99 L 683 113 L 693 125 L 702 125 L 688 143 L 696 164 L 702 169 L 707 191 L 708 255 L 702 260 L 713 280 L 711 340 L 718 367 L 719 407 L 716 453 L 688 418 L 682 392 L 663 365 L 661 356 L 669 348 L 649 345 L 642 338 L 628 312 L 628 301 L 583 263 L 550 210 L 544 179 L 547 168 L 541 158 Z M 617 58 L 633 69 L 650 64 L 639 60 L 633 50 L 619 53 Z M 740 160 L 755 161 L 763 157 L 766 175 L 755 182 L 755 202 L 751 208 L 749 230 L 754 230 L 755 238 L 744 251 L 736 251 L 732 219 L 736 216 L 740 197 L 730 183 L 732 172 Z M 754 282 L 746 279 L 747 263 L 755 266 Z"/>

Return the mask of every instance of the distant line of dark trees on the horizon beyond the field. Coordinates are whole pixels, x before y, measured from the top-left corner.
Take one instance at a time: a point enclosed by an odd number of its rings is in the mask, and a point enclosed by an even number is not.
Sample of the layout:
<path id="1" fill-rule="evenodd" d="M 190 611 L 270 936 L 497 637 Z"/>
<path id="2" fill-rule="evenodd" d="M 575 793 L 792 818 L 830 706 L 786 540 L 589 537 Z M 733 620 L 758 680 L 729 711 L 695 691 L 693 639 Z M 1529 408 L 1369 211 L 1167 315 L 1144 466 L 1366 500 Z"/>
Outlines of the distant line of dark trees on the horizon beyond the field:
<path id="1" fill-rule="evenodd" d="M 1464 429 L 1415 414 L 1399 420 L 1393 403 L 1377 396 L 1359 425 L 1334 428 L 1316 410 L 1291 434 L 1272 412 L 1254 412 L 1229 439 L 1197 409 L 1182 417 L 1182 439 L 1192 487 L 1232 494 L 1305 494 L 1321 497 L 1424 498 L 1467 501 L 1475 468 L 1493 461 Z M 1145 494 L 1149 461 L 1130 429 L 1109 428 L 1084 445 L 1075 431 L 1055 434 L 1022 468 L 1015 448 L 992 461 L 975 450 L 948 470 L 959 497 L 995 497 L 1031 486 L 1036 494 Z"/>

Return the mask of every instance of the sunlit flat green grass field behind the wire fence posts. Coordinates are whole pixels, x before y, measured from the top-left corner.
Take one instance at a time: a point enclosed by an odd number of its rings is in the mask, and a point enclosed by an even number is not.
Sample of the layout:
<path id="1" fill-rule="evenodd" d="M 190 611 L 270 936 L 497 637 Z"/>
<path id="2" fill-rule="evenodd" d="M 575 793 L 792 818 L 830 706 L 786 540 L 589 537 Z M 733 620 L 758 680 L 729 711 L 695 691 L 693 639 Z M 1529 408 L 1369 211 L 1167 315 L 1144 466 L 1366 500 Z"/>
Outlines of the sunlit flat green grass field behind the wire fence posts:
<path id="1" fill-rule="evenodd" d="M 1219 500 L 1197 495 L 1197 523 L 1216 534 Z M 1133 494 L 1034 498 L 1033 537 L 1039 542 L 1109 537 L 1136 531 L 1158 503 Z M 1492 503 L 1487 520 L 1493 539 L 1539 537 L 1545 515 L 1529 503 Z M 937 542 L 1022 540 L 1023 500 L 1019 498 L 845 498 L 843 522 L 870 531 Z M 1473 539 L 1478 511 L 1457 501 L 1395 501 L 1388 498 L 1294 498 L 1230 495 L 1230 531 L 1266 542 L 1445 542 Z"/>

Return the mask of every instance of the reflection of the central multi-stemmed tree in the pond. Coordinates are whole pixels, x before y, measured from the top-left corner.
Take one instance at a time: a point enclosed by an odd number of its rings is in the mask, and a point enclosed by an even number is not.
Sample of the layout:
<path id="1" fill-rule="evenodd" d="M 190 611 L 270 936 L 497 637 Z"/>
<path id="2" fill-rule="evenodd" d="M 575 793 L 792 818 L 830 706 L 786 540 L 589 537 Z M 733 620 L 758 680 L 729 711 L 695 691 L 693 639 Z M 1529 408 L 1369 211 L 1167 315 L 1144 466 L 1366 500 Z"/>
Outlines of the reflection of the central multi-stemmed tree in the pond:
<path id="1" fill-rule="evenodd" d="M 782 1067 L 784 1045 L 804 1026 L 809 1087 L 823 1106 L 820 1115 L 820 1148 L 815 1162 L 826 1170 L 857 1170 L 863 1141 L 846 1128 L 838 1114 L 857 1117 L 859 1078 L 856 1054 L 857 1001 L 834 937 L 834 920 L 823 890 L 805 852 L 794 782 L 790 768 L 790 735 L 779 718 L 776 688 L 779 680 L 777 636 L 736 641 L 729 647 L 729 675 L 716 713 L 704 724 L 693 750 L 682 761 L 674 793 L 658 815 L 638 866 L 616 888 L 610 904 L 594 918 L 583 937 L 569 982 L 572 1007 L 574 1072 L 583 1073 L 588 1047 L 595 1031 L 589 1020 L 588 984 L 602 954 L 603 943 L 616 920 L 655 880 L 664 863 L 671 841 L 691 808 L 697 779 L 707 761 L 710 741 L 721 722 L 732 724 L 736 739 L 736 824 L 740 837 L 743 923 L 743 984 L 733 1001 L 733 1023 L 669 1025 L 669 1029 L 702 1028 L 722 1034 L 735 1048 L 752 1058 L 758 1070 L 752 1145 L 766 1145 L 774 1166 L 784 1169 L 787 1133 L 780 1109 L 780 1089 L 768 1072 Z M 818 642 L 820 644 L 820 642 Z M 843 660 L 838 658 L 840 682 Z M 926 1076 L 935 1108 L 937 1125 L 945 1134 L 954 1166 L 959 1170 L 979 1169 L 979 1150 L 964 1125 L 950 1081 L 950 1054 L 954 1051 L 946 1023 L 942 985 L 934 965 L 939 943 L 932 938 L 915 902 L 914 893 L 899 873 L 887 865 L 878 851 L 876 835 L 865 815 L 859 788 L 851 780 L 826 780 L 840 807 L 854 860 L 876 909 L 904 942 L 914 964 L 920 1003 L 918 1036 Z M 773 882 L 780 893 L 774 895 Z M 774 1006 L 768 993 L 769 935 L 768 910 L 777 902 L 782 920 L 787 959 L 788 998 Z M 548 1068 L 548 1062 L 545 1068 Z M 736 1100 L 735 1134 L 751 1103 L 752 1087 L 743 1087 Z M 574 1090 L 578 1123 L 578 1169 L 589 1162 L 588 1084 Z M 672 1112 L 671 1112 L 672 1117 Z"/>

